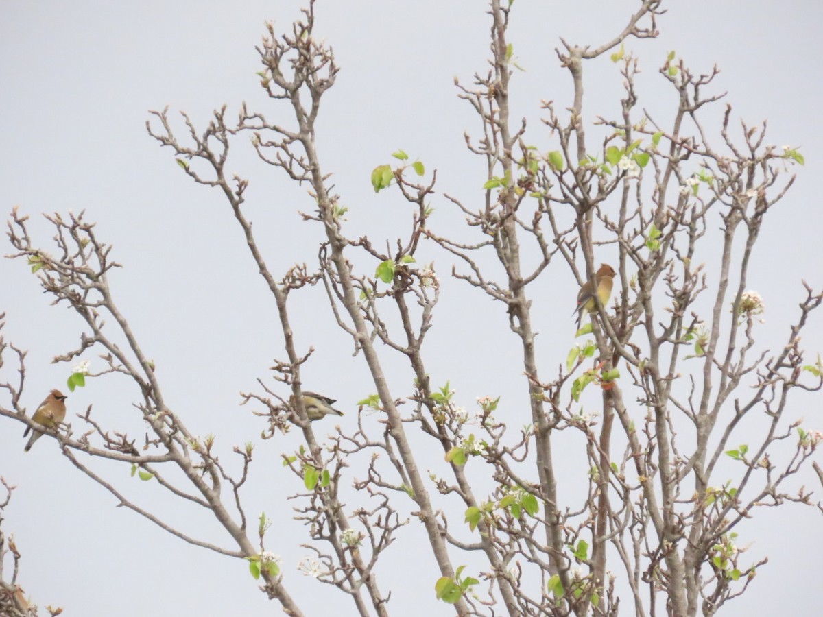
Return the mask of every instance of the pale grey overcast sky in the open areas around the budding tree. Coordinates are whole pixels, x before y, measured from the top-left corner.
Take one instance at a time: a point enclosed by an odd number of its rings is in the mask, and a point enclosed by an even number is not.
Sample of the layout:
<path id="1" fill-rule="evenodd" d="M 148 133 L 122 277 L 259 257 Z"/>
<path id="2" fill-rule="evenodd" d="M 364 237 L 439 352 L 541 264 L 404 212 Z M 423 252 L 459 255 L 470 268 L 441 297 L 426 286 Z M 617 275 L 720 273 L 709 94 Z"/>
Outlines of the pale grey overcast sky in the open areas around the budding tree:
<path id="1" fill-rule="evenodd" d="M 233 444 L 259 442 L 249 513 L 265 510 L 282 526 L 272 530 L 269 549 L 284 556 L 287 585 L 306 614 L 323 615 L 341 599 L 295 570 L 308 553 L 299 546 L 301 528 L 289 521 L 291 504 L 283 500 L 300 487 L 282 470 L 278 456 L 296 447 L 297 436 L 260 442 L 261 421 L 248 406 L 238 406 L 238 392 L 253 389 L 272 359 L 284 356 L 274 304 L 221 195 L 191 183 L 144 126 L 147 110 L 166 104 L 173 116 L 186 110 L 200 126 L 224 103 L 230 116 L 247 101 L 276 117 L 277 110 L 259 92 L 253 46 L 263 35 L 263 21 L 286 28 L 302 3 L 0 0 L 0 211 L 6 216 L 19 205 L 36 221 L 44 211 L 85 209 L 87 218 L 99 221 L 97 233 L 114 244 L 114 257 L 124 265 L 111 277 L 115 297 L 146 354 L 156 360 L 167 402 L 193 431 L 217 434 L 226 459 Z M 539 122 L 541 100 L 554 100 L 559 110 L 570 104 L 570 81 L 554 52 L 558 37 L 601 44 L 621 30 L 637 4 L 515 2 L 509 40 L 526 72 L 514 76 L 513 114 L 528 118 L 530 141 L 551 149 L 549 132 Z M 818 244 L 823 209 L 816 187 L 823 169 L 823 7 L 798 1 L 693 0 L 671 2 L 668 10 L 658 21 L 658 40 L 630 40 L 627 46 L 643 70 L 640 106 L 671 117 L 674 94 L 658 67 L 674 49 L 695 72 L 718 64 L 722 73 L 713 91 L 728 90 L 735 123 L 741 117 L 750 125 L 768 118 L 767 141 L 800 146 L 806 156 L 795 187 L 766 221 L 751 268 L 750 286 L 767 304 L 765 346 L 770 341 L 779 345 L 788 319 L 797 314 L 800 279 L 816 289 L 823 285 Z M 469 83 L 473 72 L 487 70 L 485 11 L 485 2 L 469 0 L 319 2 L 318 30 L 342 67 L 323 101 L 319 150 L 342 203 L 350 208 L 351 236 L 369 234 L 380 242 L 403 233 L 407 206 L 394 195 L 375 195 L 370 186 L 371 169 L 389 162 L 397 148 L 419 157 L 427 169 L 438 169 L 432 205 L 440 229 L 462 221 L 443 192 L 480 198 L 485 163 L 467 153 L 463 141 L 463 131 L 475 131 L 477 119 L 457 99 L 453 77 Z M 586 80 L 586 119 L 616 114 L 622 94 L 616 65 L 607 57 L 589 63 Z M 289 123 L 289 116 L 278 118 Z M 312 209 L 305 190 L 254 160 L 249 147 L 236 147 L 234 154 L 230 169 L 252 182 L 247 213 L 272 271 L 314 262 L 321 230 L 301 223 L 296 214 Z M 35 222 L 32 229 L 40 233 L 40 243 L 50 238 L 46 225 Z M 10 250 L 7 245 L 2 253 Z M 514 409 L 523 402 L 522 369 L 502 309 L 476 290 L 448 281 L 449 257 L 434 246 L 426 250 L 418 261 L 434 259 L 444 281 L 430 335 L 436 339 L 430 373 L 436 383 L 450 379 L 467 407 L 475 397 L 502 394 Z M 542 360 L 550 365 L 564 359 L 571 344 L 572 327 L 566 322 L 575 288 L 570 274 L 561 272 L 565 268 L 557 269 L 556 284 L 542 290 L 544 297 L 532 291 L 545 306 L 537 329 Z M 62 306 L 49 307 L 22 262 L 2 260 L 0 280 L 7 340 L 30 350 L 24 402 L 33 411 L 50 387 L 65 383 L 67 367 L 50 360 L 77 346 L 81 324 Z M 334 326 L 323 302 L 319 287 L 297 295 L 292 325 L 303 350 L 317 349 L 305 369 L 305 383 L 337 397 L 351 412 L 345 423 L 354 416 L 356 401 L 374 387 L 362 359 L 351 358 L 351 341 Z M 467 315 L 493 326 L 478 336 L 465 327 Z M 823 318 L 816 315 L 805 348 L 823 350 L 821 324 Z M 100 369 L 102 362 L 91 359 L 92 369 Z M 387 364 L 390 371 L 398 366 L 389 380 L 398 396 L 407 396 L 411 378 L 406 369 L 398 360 Z M 7 368 L 0 381 L 12 378 Z M 93 403 L 95 413 L 110 418 L 112 427 L 123 425 L 133 415 L 131 387 L 114 377 L 92 380 L 69 398 L 70 417 Z M 507 399 L 507 392 L 516 394 Z M 797 415 L 805 416 L 807 428 L 823 429 L 820 397 L 807 404 Z M 526 422 L 514 420 L 515 425 Z M 20 582 L 35 601 L 62 605 L 65 615 L 83 617 L 279 613 L 256 590 L 243 562 L 186 545 L 136 514 L 114 508 L 109 494 L 58 455 L 53 440 L 44 438 L 24 454 L 21 433 L 20 424 L 0 420 L 0 474 L 19 487 L 3 528 L 15 534 L 24 554 Z M 439 461 L 442 453 L 432 457 Z M 151 483 L 131 480 L 127 467 L 100 468 L 154 512 L 195 536 L 226 544 L 215 522 L 179 509 Z M 812 476 L 803 480 L 816 487 Z M 791 605 L 797 615 L 816 613 L 815 594 L 801 590 L 819 579 L 820 513 L 789 505 L 760 517 L 744 527 L 742 544 L 751 543 L 751 560 L 768 554 L 770 564 L 727 612 L 764 615 Z M 390 550 L 394 567 L 407 568 L 407 574 L 400 577 L 390 568 L 379 573 L 386 584 L 398 581 L 391 585 L 392 614 L 449 615 L 449 607 L 435 601 L 434 563 L 425 550 L 416 552 L 414 537 L 410 531 Z M 399 582 L 402 578 L 411 582 Z M 418 587 L 419 580 L 425 582 Z"/>

